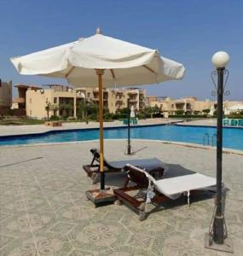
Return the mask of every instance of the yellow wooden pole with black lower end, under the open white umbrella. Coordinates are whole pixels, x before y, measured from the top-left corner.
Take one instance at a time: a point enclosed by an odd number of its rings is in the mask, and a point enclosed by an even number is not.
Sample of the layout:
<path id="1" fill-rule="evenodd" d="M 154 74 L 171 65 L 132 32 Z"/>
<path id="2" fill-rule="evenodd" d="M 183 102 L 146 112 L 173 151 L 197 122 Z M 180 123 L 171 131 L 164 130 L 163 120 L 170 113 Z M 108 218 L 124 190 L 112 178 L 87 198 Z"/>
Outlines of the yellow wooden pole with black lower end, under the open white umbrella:
<path id="1" fill-rule="evenodd" d="M 100 121 L 100 172 L 101 172 L 101 190 L 105 189 L 105 172 L 104 172 L 104 134 L 103 134 L 103 86 L 102 75 L 103 69 L 96 69 L 99 81 L 99 121 Z"/>

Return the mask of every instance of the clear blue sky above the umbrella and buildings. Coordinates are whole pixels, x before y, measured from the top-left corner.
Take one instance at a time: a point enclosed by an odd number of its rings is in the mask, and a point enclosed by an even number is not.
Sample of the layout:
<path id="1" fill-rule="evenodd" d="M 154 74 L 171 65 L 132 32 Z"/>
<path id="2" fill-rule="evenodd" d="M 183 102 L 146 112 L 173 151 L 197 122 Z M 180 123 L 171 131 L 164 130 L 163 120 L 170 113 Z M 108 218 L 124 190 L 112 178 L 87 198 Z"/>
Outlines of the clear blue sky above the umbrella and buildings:
<path id="1" fill-rule="evenodd" d="M 95 34 L 159 49 L 161 55 L 181 62 L 181 81 L 144 85 L 151 96 L 209 98 L 211 56 L 229 53 L 230 95 L 243 101 L 243 1 L 241 0 L 1 0 L 0 79 L 14 84 L 67 84 L 65 80 L 17 73 L 9 58 L 66 44 Z"/>

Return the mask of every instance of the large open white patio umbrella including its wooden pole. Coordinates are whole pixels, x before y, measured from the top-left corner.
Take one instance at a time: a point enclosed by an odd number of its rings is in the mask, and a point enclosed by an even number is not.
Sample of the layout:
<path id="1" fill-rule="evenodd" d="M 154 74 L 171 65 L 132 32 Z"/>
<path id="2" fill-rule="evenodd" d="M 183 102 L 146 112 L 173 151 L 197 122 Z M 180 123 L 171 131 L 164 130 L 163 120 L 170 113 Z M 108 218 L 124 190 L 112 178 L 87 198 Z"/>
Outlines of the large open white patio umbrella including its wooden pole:
<path id="1" fill-rule="evenodd" d="M 158 50 L 103 36 L 100 29 L 90 38 L 80 38 L 70 44 L 11 58 L 10 61 L 20 74 L 67 79 L 76 87 L 96 87 L 98 77 L 101 189 L 105 188 L 103 85 L 156 84 L 182 79 L 185 72 L 182 64 L 161 57 Z"/>

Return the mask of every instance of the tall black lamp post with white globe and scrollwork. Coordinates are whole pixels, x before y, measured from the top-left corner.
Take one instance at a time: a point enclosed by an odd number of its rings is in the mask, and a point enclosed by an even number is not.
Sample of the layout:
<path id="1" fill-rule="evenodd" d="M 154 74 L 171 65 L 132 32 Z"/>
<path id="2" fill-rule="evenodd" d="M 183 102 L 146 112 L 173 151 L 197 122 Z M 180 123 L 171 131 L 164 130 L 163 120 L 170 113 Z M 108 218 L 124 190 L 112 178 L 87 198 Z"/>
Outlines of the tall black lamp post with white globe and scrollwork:
<path id="1" fill-rule="evenodd" d="M 229 241 L 229 238 L 227 239 L 222 196 L 223 95 L 227 93 L 224 91 L 224 87 L 229 76 L 229 71 L 225 67 L 229 63 L 229 55 L 224 51 L 219 51 L 212 56 L 211 61 L 217 68 L 217 70 L 211 73 L 216 87 L 214 95 L 217 95 L 217 195 L 210 231 L 209 234 L 206 234 L 205 247 L 232 252 L 232 242 Z M 226 79 L 223 82 L 225 75 Z M 217 83 L 213 79 L 214 76 L 217 76 Z"/>

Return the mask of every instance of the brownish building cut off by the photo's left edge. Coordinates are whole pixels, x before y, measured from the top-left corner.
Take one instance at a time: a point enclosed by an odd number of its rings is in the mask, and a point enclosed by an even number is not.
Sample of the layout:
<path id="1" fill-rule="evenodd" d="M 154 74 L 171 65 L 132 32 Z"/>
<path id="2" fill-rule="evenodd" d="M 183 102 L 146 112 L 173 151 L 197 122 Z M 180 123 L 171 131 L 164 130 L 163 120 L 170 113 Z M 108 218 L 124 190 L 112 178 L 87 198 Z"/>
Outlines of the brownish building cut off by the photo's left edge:
<path id="1" fill-rule="evenodd" d="M 12 81 L 0 82 L 0 114 L 7 114 L 12 106 Z"/>

